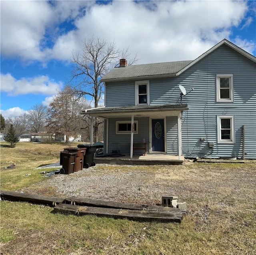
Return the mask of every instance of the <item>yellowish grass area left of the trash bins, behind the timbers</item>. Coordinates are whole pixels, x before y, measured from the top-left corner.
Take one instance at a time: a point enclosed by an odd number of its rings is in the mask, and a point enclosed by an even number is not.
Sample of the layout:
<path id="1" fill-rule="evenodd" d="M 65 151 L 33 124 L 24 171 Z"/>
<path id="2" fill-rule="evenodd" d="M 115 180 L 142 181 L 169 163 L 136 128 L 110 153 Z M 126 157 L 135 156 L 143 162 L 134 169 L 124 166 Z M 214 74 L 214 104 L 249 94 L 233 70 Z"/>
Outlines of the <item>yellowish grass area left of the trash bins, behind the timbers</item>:
<path id="1" fill-rule="evenodd" d="M 42 180 L 37 167 L 58 162 L 60 151 L 66 147 L 63 143 L 18 142 L 15 148 L 8 143 L 0 145 L 0 176 L 2 190 L 18 190 Z M 15 163 L 15 168 L 6 168 Z M 26 175 L 28 174 L 28 175 Z M 30 175 L 31 174 L 31 175 Z"/>

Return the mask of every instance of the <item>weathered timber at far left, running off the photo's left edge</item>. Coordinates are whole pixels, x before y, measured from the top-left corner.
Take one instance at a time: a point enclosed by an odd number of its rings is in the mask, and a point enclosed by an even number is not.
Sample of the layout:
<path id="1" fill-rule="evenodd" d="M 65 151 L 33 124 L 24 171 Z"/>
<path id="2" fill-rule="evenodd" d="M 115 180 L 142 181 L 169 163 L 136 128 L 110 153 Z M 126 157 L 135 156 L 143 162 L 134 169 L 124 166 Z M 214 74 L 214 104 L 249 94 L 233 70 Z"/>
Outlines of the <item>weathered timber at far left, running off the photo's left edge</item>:
<path id="1" fill-rule="evenodd" d="M 2 200 L 24 201 L 24 202 L 31 202 L 35 204 L 46 204 L 49 206 L 56 206 L 57 204 L 64 202 L 64 198 L 41 196 L 37 194 L 20 193 L 20 192 L 4 191 L 4 190 L 0 191 L 0 196 Z"/>

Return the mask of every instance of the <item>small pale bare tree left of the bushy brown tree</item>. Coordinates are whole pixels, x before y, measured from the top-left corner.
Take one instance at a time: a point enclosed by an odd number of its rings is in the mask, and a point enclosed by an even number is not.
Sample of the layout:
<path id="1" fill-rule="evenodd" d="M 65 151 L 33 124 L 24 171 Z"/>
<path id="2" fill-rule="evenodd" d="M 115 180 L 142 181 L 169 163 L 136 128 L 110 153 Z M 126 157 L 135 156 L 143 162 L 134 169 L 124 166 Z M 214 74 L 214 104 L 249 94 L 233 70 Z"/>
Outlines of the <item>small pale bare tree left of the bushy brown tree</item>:
<path id="1" fill-rule="evenodd" d="M 28 121 L 30 130 L 32 132 L 39 132 L 42 131 L 42 129 L 45 126 L 46 122 L 46 116 L 47 116 L 47 107 L 38 104 L 34 105 L 30 111 L 28 111 Z"/>

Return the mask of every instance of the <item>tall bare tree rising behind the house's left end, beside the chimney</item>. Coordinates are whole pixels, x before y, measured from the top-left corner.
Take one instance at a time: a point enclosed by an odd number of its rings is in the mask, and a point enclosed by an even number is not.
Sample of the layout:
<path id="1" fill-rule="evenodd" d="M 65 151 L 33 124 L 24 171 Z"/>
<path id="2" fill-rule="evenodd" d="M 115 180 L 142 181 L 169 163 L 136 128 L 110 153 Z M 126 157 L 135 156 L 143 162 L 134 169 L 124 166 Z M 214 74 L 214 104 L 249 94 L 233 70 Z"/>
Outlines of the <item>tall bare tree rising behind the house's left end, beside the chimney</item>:
<path id="1" fill-rule="evenodd" d="M 120 51 L 114 42 L 108 43 L 106 40 L 92 36 L 84 40 L 82 53 L 73 53 L 72 63 L 72 81 L 76 80 L 74 91 L 80 97 L 90 97 L 93 101 L 93 107 L 99 107 L 102 93 L 104 93 L 104 84 L 101 78 L 106 75 L 114 66 L 117 65 L 120 58 L 129 57 L 128 49 Z M 129 64 L 136 62 L 129 60 Z M 98 129 L 103 121 L 94 120 L 94 142 L 98 142 Z"/>

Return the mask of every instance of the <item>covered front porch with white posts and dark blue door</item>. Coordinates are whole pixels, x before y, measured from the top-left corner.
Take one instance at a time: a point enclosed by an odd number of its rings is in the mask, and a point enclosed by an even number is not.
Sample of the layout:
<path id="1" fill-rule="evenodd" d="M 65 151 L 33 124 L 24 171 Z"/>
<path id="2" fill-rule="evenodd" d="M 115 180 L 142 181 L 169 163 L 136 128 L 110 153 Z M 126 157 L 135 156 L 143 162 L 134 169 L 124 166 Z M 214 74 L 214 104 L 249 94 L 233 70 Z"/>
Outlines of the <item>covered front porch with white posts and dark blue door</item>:
<path id="1" fill-rule="evenodd" d="M 181 119 L 182 112 L 186 110 L 187 105 L 100 107 L 87 109 L 82 114 L 91 117 L 91 144 L 93 118 L 105 119 L 104 153 L 121 152 L 118 159 L 110 157 L 108 161 L 135 164 L 141 161 L 184 160 Z M 97 160 L 106 162 L 106 158 Z"/>

